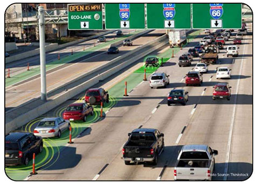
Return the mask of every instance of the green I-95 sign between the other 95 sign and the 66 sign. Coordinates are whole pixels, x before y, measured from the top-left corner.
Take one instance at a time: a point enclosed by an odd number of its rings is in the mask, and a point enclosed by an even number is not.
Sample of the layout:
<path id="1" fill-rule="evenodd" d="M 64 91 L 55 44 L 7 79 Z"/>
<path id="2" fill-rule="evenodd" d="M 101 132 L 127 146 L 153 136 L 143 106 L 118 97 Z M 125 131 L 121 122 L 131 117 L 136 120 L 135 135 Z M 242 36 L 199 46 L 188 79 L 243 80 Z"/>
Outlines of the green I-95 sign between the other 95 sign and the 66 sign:
<path id="1" fill-rule="evenodd" d="M 148 29 L 191 29 L 191 4 L 147 4 Z"/>

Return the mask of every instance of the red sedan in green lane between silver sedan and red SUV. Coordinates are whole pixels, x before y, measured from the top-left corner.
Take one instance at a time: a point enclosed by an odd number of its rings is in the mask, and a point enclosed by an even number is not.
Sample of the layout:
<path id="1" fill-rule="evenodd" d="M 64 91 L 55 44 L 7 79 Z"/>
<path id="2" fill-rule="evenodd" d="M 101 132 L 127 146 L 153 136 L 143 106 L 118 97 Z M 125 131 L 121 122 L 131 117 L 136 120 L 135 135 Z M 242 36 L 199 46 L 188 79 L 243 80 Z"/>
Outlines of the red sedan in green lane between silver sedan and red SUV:
<path id="1" fill-rule="evenodd" d="M 86 103 L 72 103 L 64 111 L 63 119 L 70 121 L 82 120 L 86 122 L 88 115 L 93 116 L 93 107 Z"/>

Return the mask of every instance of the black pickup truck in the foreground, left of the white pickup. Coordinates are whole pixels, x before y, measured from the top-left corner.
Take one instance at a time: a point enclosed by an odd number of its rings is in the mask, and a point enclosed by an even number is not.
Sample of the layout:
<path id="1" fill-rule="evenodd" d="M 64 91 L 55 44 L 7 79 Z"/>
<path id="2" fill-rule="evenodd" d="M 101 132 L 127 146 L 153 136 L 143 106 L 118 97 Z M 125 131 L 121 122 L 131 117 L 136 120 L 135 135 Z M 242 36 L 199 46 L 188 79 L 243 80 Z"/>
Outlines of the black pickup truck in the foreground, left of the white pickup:
<path id="1" fill-rule="evenodd" d="M 124 164 L 151 162 L 156 165 L 157 157 L 164 150 L 163 133 L 156 129 L 135 129 L 128 136 L 122 149 Z"/>

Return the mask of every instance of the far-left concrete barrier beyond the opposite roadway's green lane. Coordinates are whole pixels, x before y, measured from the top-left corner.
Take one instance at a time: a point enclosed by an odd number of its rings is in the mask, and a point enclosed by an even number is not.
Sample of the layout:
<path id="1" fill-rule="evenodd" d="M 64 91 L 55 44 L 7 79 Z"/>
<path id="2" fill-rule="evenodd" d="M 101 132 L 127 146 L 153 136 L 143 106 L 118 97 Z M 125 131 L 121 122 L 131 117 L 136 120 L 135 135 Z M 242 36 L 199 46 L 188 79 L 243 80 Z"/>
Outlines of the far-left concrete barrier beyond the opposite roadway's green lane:
<path id="1" fill-rule="evenodd" d="M 87 41 L 87 40 L 91 40 L 91 39 L 94 39 L 94 38 L 98 38 L 100 36 L 103 36 L 105 34 L 109 34 L 109 33 L 115 32 L 115 31 L 116 30 L 106 31 L 106 32 L 96 34 L 96 35 L 91 36 L 91 37 L 71 41 L 71 42 L 66 43 L 66 44 L 58 45 L 57 43 L 54 43 L 54 44 L 46 45 L 45 46 L 45 52 L 50 52 L 50 51 L 54 51 L 56 49 L 64 48 L 64 47 L 71 46 L 71 45 L 74 45 L 74 44 L 78 44 L 78 43 L 81 43 L 82 41 Z M 18 60 L 21 60 L 21 59 L 29 58 L 31 56 L 38 55 L 39 53 L 40 53 L 40 48 L 36 48 L 33 51 L 27 51 L 27 52 L 23 52 L 23 53 L 20 53 L 20 54 L 12 55 L 8 58 L 5 58 L 5 63 L 10 63 L 10 62 L 13 62 L 13 61 L 18 61 Z"/>

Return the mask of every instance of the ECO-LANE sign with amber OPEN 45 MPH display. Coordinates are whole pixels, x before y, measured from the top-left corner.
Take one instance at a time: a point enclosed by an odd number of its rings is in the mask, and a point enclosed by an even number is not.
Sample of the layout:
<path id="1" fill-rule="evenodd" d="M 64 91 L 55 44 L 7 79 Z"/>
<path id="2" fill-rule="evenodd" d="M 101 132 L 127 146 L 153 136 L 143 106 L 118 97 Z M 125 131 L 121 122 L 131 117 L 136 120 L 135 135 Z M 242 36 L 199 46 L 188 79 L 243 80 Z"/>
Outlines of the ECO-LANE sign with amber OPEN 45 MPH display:
<path id="1" fill-rule="evenodd" d="M 68 30 L 102 30 L 102 4 L 68 4 Z"/>

